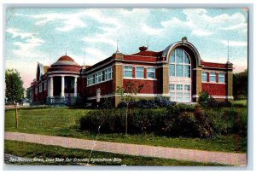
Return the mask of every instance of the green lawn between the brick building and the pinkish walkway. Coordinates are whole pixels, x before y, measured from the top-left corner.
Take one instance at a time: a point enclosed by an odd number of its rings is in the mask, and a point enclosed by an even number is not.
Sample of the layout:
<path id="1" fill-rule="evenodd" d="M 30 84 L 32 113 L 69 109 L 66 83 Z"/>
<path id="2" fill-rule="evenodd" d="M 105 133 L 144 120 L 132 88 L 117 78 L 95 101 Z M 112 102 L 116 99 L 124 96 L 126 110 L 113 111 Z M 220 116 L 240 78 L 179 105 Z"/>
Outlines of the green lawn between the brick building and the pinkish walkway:
<path id="1" fill-rule="evenodd" d="M 246 113 L 247 108 L 243 109 Z M 84 139 L 95 139 L 96 135 L 81 132 L 76 128 L 77 120 L 86 113 L 85 109 L 67 107 L 19 109 L 19 129 L 15 129 L 15 110 L 5 111 L 5 131 L 70 136 Z M 172 148 L 191 148 L 209 151 L 246 152 L 246 137 L 229 135 L 212 139 L 154 136 L 153 134 L 128 135 L 101 134 L 98 140 L 107 142 L 126 142 Z"/>

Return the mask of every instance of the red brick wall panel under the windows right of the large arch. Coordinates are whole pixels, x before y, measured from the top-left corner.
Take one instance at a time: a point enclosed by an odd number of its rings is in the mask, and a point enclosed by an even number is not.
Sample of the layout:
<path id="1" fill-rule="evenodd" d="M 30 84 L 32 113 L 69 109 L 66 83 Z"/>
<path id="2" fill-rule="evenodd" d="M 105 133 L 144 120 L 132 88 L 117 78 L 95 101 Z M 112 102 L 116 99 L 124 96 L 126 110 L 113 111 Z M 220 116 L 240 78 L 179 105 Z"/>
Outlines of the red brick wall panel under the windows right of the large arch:
<path id="1" fill-rule="evenodd" d="M 226 84 L 202 83 L 201 90 L 206 90 L 211 96 L 225 96 Z"/>

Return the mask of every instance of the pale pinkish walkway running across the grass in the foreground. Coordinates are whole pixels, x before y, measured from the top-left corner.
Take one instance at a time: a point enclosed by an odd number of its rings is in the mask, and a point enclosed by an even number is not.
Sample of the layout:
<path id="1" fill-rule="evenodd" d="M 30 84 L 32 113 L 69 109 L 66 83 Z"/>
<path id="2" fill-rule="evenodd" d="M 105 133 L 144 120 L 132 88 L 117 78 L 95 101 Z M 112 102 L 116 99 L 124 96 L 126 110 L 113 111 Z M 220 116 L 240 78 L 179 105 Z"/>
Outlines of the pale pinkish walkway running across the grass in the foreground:
<path id="1" fill-rule="evenodd" d="M 147 145 L 127 144 L 119 142 L 101 142 L 61 136 L 43 136 L 37 134 L 26 134 L 18 132 L 5 132 L 5 140 L 20 142 L 35 142 L 45 145 L 55 145 L 64 148 L 80 148 L 90 150 L 94 147 L 96 151 L 113 154 L 129 154 L 136 156 L 155 157 L 162 159 L 188 160 L 204 163 L 220 163 L 224 165 L 247 164 L 246 154 L 211 152 L 204 150 L 193 150 L 184 148 L 163 148 Z"/>

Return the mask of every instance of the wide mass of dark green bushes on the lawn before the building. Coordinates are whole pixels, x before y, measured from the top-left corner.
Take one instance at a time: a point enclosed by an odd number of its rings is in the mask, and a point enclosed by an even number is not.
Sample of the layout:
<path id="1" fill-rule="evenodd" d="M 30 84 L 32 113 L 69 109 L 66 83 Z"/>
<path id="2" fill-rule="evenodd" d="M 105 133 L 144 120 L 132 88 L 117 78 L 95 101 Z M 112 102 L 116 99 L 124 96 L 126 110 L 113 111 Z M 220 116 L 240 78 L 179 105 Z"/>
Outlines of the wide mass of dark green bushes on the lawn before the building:
<path id="1" fill-rule="evenodd" d="M 212 119 L 200 106 L 184 104 L 158 109 L 129 109 L 129 133 L 155 133 L 164 136 L 212 136 Z M 125 109 L 93 110 L 79 120 L 81 130 L 102 133 L 125 132 Z"/>

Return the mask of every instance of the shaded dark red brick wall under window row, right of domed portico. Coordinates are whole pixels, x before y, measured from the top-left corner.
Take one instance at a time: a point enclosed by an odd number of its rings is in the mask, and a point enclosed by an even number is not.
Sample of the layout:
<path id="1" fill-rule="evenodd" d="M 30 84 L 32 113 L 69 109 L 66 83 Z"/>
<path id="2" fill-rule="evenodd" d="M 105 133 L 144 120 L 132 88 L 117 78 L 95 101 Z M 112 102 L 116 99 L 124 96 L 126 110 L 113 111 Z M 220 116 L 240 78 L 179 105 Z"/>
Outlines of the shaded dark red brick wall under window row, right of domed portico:
<path id="1" fill-rule="evenodd" d="M 86 96 L 96 96 L 96 89 L 101 89 L 101 96 L 113 94 L 113 80 L 109 80 L 107 82 L 103 82 L 101 84 L 95 84 L 92 86 L 88 86 L 86 88 Z"/>

